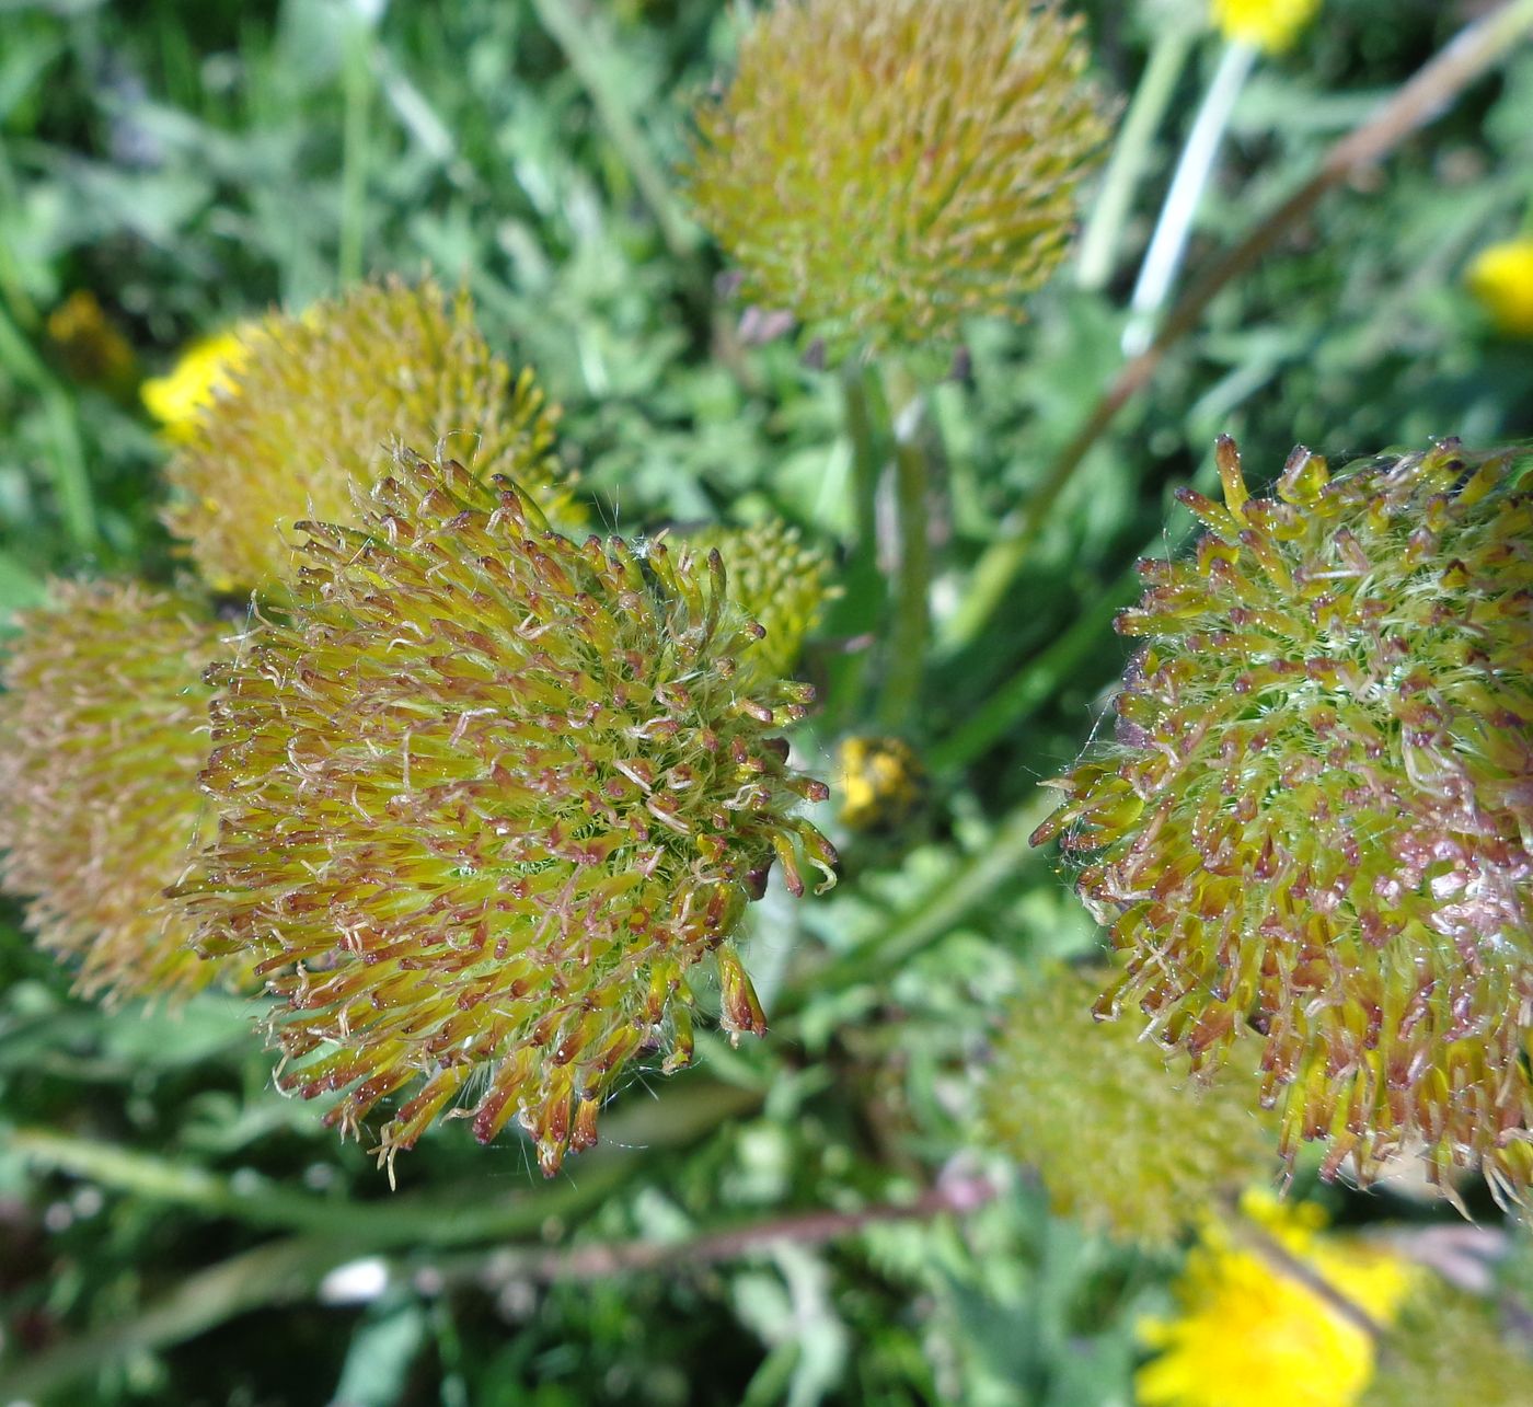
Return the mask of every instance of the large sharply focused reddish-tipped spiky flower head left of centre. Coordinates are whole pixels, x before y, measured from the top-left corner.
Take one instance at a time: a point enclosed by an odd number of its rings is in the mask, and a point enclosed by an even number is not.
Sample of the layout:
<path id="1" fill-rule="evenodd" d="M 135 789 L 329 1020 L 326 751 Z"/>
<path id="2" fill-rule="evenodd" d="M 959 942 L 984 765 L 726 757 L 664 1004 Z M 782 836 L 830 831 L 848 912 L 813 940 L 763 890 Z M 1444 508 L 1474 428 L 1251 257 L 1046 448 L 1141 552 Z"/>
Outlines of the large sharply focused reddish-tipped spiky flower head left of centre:
<path id="1" fill-rule="evenodd" d="M 730 935 L 774 861 L 831 875 L 793 815 L 825 788 L 774 736 L 809 691 L 740 690 L 759 627 L 716 552 L 576 544 L 408 454 L 356 518 L 304 524 L 290 621 L 212 673 L 184 894 L 261 959 L 281 1084 L 342 1091 L 343 1133 L 400 1093 L 380 1154 L 454 1105 L 484 1142 L 520 1116 L 552 1172 L 632 1056 L 687 1062 L 705 958 L 725 1028 L 765 1030 Z"/>

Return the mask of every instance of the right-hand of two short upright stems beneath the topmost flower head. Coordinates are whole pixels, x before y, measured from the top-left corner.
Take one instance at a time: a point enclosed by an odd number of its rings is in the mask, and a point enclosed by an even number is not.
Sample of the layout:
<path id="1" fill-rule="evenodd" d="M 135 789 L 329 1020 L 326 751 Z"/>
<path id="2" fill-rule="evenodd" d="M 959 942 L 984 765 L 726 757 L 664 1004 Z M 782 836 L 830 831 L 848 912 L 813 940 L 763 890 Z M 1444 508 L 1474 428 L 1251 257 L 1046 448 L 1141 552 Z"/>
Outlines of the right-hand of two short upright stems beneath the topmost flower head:
<path id="1" fill-rule="evenodd" d="M 894 624 L 885 651 L 878 722 L 891 733 L 911 728 L 921 700 L 931 639 L 932 546 L 931 464 L 921 443 L 926 395 L 901 368 L 886 377 L 894 428 L 894 500 L 898 564 L 894 579 Z"/>

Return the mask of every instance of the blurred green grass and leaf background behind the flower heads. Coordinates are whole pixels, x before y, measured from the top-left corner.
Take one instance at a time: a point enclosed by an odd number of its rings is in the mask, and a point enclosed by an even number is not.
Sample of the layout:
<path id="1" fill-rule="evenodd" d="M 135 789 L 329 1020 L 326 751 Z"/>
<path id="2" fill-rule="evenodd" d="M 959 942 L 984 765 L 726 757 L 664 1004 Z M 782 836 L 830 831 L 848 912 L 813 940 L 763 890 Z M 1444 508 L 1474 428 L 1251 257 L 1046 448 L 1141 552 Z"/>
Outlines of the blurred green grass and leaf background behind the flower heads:
<path id="1" fill-rule="evenodd" d="M 1174 5 L 1081 8 L 1107 86 L 1131 93 Z M 1464 17 L 1331 0 L 1243 93 L 1190 265 L 1243 235 Z M 472 290 L 491 343 L 564 405 L 563 452 L 601 523 L 771 512 L 845 564 L 803 665 L 825 708 L 797 739 L 828 771 L 839 736 L 872 723 L 881 661 L 858 638 L 886 616 L 858 540 L 846 383 L 794 336 L 751 336 L 760 319 L 742 322 L 668 184 L 740 23 L 721 0 L 0 0 L 0 610 L 48 573 L 184 570 L 158 526 L 153 429 L 132 394 L 81 383 L 49 342 L 71 293 L 94 293 L 155 372 L 273 302 L 429 265 Z M 975 323 L 966 372 L 934 392 L 938 618 L 1121 363 L 1127 290 L 1216 58 L 1213 37 L 1193 46 L 1107 288 L 1065 270 L 1026 325 Z M 1343 461 L 1433 434 L 1533 434 L 1528 346 L 1498 339 L 1461 285 L 1475 248 L 1527 216 L 1530 110 L 1524 46 L 1220 294 L 1090 454 L 1007 608 L 931 662 L 911 739 L 934 763 L 924 811 L 846 843 L 826 900 L 757 906 L 748 952 L 773 1033 L 739 1050 L 702 1036 L 696 1070 L 636 1081 L 602 1146 L 556 1182 L 514 1139 L 481 1150 L 458 1123 L 399 1165 L 391 1195 L 363 1150 L 274 1093 L 236 1002 L 98 1010 L 9 921 L 6 1393 L 1130 1401 L 1133 1323 L 1165 1306 L 1174 1257 L 1050 1217 L 1027 1176 L 980 1154 L 954 1163 L 1018 970 L 1093 943 L 1027 851 L 1047 806 L 1035 782 L 1075 756 L 1121 671 L 1124 570 L 1185 541 L 1170 492 L 1206 487 L 1216 432 L 1242 441 L 1256 481 L 1300 440 Z M 877 383 L 857 386 L 880 411 Z M 1001 1194 L 961 1222 L 691 1254 L 742 1223 L 981 1172 Z M 1439 1215 L 1389 1195 L 1341 1209 Z M 675 1255 L 553 1284 L 518 1258 L 635 1238 Z"/>

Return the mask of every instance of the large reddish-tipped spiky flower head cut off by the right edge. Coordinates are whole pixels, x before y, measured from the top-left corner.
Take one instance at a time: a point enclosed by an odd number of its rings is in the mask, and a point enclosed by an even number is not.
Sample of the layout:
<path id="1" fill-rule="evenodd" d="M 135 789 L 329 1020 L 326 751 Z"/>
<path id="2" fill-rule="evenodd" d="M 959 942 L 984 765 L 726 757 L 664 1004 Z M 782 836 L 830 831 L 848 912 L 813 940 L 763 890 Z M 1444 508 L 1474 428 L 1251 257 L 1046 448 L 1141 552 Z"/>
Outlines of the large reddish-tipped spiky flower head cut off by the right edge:
<path id="1" fill-rule="evenodd" d="M 1208 532 L 1142 562 L 1116 742 L 1036 840 L 1127 959 L 1102 1001 L 1214 1061 L 1249 1019 L 1283 1145 L 1366 1180 L 1533 1172 L 1533 500 L 1444 441 L 1251 498 L 1220 440 Z"/>

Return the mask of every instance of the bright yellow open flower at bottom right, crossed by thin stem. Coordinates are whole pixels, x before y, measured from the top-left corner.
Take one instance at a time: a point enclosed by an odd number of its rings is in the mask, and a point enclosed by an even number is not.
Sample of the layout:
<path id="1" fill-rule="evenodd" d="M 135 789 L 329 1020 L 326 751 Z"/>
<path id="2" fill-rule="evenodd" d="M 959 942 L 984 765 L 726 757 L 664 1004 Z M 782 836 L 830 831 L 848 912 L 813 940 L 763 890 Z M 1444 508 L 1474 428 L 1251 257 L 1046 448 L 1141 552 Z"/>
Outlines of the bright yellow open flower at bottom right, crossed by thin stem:
<path id="1" fill-rule="evenodd" d="M 1321 1234 L 1325 1212 L 1248 1192 L 1242 1209 L 1369 1318 L 1387 1324 L 1418 1272 Z M 1142 1407 L 1351 1407 L 1374 1373 L 1372 1336 L 1237 1231 L 1210 1225 L 1177 1283 L 1182 1314 L 1141 1326 L 1159 1356 L 1136 1375 Z"/>

